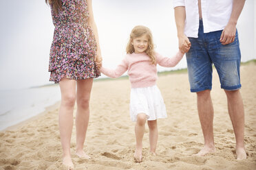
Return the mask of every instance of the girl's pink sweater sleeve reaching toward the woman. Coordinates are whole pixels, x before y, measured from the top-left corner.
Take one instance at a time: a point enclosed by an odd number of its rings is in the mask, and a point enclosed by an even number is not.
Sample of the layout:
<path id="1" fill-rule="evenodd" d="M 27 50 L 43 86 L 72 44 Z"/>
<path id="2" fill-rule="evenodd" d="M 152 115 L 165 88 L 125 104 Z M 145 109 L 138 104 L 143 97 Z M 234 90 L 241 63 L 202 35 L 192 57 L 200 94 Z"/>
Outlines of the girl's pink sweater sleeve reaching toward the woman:
<path id="1" fill-rule="evenodd" d="M 111 77 L 111 78 L 117 78 L 120 77 L 123 73 L 125 73 L 125 71 L 127 71 L 128 69 L 128 65 L 125 62 L 125 59 L 122 60 L 121 64 L 119 64 L 116 69 L 107 69 L 104 67 L 100 68 L 100 72 L 107 75 L 107 77 Z"/>

